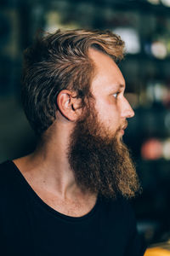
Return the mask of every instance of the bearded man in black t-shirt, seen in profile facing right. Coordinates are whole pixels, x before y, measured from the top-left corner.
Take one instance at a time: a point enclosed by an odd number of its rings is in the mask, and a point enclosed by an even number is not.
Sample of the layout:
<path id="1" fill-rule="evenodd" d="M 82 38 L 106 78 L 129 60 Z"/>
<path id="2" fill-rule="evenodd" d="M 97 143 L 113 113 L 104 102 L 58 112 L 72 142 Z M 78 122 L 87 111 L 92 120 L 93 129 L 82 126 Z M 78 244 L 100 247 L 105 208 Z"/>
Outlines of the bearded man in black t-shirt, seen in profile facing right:
<path id="1" fill-rule="evenodd" d="M 133 109 L 112 32 L 57 31 L 25 52 L 22 101 L 36 150 L 1 165 L 3 255 L 144 254 L 122 136 Z"/>

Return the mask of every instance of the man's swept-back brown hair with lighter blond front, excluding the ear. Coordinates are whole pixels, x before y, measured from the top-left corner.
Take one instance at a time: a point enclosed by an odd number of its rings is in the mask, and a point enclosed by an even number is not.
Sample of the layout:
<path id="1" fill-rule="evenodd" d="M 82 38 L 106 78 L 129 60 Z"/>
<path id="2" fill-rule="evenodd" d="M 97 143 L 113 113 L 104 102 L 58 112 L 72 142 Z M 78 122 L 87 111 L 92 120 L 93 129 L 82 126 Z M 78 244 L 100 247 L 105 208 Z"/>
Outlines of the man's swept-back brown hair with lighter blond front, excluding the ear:
<path id="1" fill-rule="evenodd" d="M 84 107 L 95 73 L 88 55 L 92 48 L 118 61 L 123 57 L 124 43 L 112 32 L 72 30 L 39 37 L 26 49 L 22 102 L 37 135 L 53 124 L 61 90 L 74 91 Z"/>

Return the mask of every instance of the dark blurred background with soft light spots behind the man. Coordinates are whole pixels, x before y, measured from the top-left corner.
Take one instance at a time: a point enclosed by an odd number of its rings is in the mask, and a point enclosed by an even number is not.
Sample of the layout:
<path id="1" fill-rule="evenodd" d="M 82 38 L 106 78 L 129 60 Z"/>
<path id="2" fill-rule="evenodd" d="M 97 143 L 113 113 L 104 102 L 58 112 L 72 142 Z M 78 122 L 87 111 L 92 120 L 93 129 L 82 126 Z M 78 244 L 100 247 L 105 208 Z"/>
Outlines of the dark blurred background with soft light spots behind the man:
<path id="1" fill-rule="evenodd" d="M 120 64 L 135 117 L 124 141 L 143 194 L 133 200 L 148 243 L 170 237 L 170 0 L 1 0 L 0 162 L 28 154 L 33 131 L 20 103 L 22 52 L 37 29 L 110 29 L 126 42 Z"/>

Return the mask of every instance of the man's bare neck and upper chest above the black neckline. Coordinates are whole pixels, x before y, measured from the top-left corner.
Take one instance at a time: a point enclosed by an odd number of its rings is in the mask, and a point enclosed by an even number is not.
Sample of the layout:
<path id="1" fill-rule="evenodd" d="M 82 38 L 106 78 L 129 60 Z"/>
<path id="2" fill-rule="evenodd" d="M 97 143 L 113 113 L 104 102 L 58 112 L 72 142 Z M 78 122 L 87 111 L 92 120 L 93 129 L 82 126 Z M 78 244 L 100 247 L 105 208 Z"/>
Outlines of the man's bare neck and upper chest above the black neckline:
<path id="1" fill-rule="evenodd" d="M 56 126 L 54 124 L 53 129 Z M 67 137 L 71 132 L 68 126 L 60 124 L 59 132 L 53 133 L 48 143 L 34 153 L 14 160 L 14 164 L 49 207 L 67 216 L 81 217 L 94 207 L 96 195 L 83 193 L 75 183 L 66 157 Z"/>

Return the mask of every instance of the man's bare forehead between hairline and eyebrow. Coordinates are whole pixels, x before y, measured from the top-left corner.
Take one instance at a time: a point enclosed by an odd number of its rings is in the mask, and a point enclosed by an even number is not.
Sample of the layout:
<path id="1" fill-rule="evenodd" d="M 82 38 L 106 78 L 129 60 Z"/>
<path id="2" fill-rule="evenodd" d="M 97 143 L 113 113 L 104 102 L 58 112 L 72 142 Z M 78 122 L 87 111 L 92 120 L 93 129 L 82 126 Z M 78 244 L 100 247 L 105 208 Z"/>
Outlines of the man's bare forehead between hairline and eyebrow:
<path id="1" fill-rule="evenodd" d="M 92 80 L 92 90 L 116 90 L 125 80 L 116 62 L 109 55 L 97 49 L 89 49 L 89 57 L 94 61 L 95 73 Z"/>

